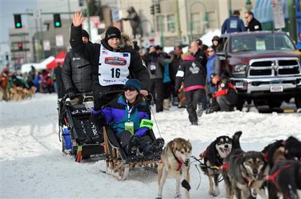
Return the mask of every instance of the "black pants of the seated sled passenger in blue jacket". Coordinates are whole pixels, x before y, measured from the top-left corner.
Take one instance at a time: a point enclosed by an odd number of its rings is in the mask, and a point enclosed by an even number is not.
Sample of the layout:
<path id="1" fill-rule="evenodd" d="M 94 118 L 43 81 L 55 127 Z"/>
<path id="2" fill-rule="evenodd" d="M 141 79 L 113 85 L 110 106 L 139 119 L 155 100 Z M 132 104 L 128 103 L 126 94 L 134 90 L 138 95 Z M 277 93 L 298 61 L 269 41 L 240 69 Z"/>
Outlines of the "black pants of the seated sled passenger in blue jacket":
<path id="1" fill-rule="evenodd" d="M 123 131 L 122 133 L 116 134 L 116 138 L 118 142 L 120 143 L 123 151 L 128 152 L 128 140 L 131 138 L 132 134 L 129 131 Z M 139 138 L 139 149 L 140 152 L 144 152 L 147 145 L 151 145 L 153 142 L 152 138 L 147 135 L 143 135 L 141 138 Z"/>

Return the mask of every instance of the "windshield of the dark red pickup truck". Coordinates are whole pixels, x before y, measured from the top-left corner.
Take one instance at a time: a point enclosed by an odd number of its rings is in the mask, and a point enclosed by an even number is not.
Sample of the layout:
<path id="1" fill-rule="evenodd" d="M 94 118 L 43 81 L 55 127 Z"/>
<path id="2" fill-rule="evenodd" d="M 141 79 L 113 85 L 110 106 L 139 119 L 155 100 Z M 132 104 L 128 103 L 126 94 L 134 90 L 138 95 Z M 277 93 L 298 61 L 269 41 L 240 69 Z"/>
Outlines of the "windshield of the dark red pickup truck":
<path id="1" fill-rule="evenodd" d="M 231 40 L 231 52 L 295 50 L 286 34 L 235 36 Z"/>

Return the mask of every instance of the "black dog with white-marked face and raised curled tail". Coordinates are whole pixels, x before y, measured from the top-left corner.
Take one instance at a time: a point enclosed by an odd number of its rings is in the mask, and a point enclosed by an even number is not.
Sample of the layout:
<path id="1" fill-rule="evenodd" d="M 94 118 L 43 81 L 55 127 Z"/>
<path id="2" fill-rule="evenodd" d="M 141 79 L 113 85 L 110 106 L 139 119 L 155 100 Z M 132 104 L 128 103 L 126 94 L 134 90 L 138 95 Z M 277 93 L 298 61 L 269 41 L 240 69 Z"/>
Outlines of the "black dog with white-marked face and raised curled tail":
<path id="1" fill-rule="evenodd" d="M 220 189 L 218 186 L 218 179 L 220 177 L 219 172 L 215 172 L 212 169 L 213 166 L 220 167 L 223 164 L 223 160 L 227 155 L 232 152 L 233 149 L 240 149 L 239 138 L 241 137 L 241 131 L 234 133 L 233 138 L 222 135 L 216 138 L 206 149 L 205 152 L 200 154 L 200 157 L 204 159 L 205 167 L 201 167 L 203 172 L 208 175 L 209 179 L 209 195 L 218 196 Z M 213 178 L 212 178 L 213 176 Z M 213 179 L 215 187 L 213 188 Z"/>

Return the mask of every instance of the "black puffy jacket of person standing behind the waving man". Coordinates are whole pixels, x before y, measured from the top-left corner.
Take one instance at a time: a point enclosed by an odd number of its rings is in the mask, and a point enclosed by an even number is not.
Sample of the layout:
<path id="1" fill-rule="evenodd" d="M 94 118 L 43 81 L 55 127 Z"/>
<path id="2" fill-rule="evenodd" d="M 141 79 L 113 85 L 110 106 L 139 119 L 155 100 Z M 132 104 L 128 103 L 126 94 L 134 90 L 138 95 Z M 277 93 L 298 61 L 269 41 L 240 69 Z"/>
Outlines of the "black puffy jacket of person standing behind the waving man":
<path id="1" fill-rule="evenodd" d="M 75 92 L 92 91 L 92 70 L 90 63 L 70 50 L 62 66 L 62 81 L 65 89 Z"/>

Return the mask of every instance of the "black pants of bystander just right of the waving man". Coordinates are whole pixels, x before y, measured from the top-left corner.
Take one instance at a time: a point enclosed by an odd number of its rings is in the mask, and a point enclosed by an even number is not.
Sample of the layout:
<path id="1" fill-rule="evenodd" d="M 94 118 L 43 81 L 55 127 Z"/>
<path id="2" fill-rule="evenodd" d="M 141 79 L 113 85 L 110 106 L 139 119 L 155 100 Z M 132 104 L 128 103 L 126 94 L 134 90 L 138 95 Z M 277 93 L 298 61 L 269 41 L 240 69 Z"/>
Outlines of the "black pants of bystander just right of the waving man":
<path id="1" fill-rule="evenodd" d="M 153 79 L 151 80 L 150 92 L 154 97 L 154 101 L 156 103 L 156 112 L 163 111 L 163 79 Z"/>

